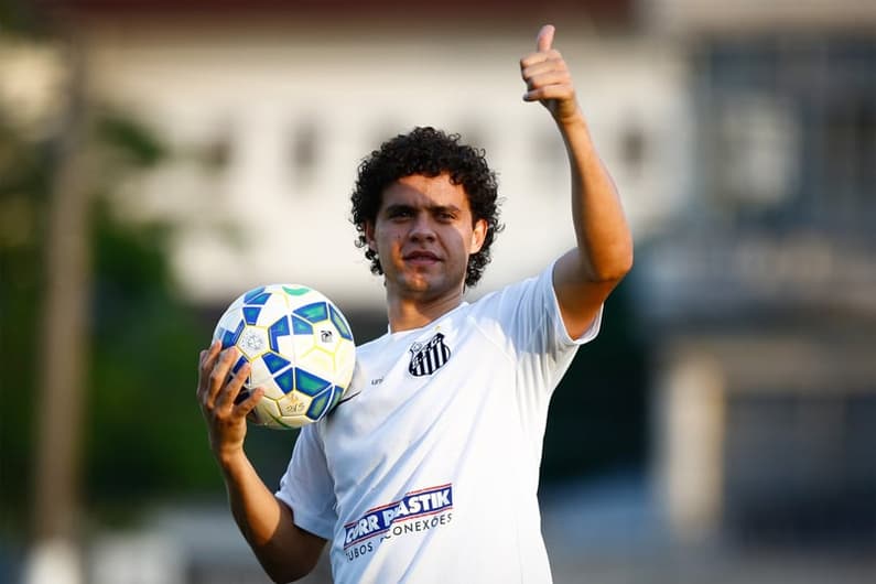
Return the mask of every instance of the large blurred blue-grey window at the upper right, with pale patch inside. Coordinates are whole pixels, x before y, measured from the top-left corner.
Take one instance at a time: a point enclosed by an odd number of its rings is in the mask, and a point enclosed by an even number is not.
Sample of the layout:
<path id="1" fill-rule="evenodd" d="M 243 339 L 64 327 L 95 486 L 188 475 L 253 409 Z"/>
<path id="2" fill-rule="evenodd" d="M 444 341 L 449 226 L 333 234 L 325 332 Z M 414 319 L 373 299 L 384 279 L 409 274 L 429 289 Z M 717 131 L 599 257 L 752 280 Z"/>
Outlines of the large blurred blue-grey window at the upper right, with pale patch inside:
<path id="1" fill-rule="evenodd" d="M 722 39 L 695 66 L 699 190 L 715 208 L 873 237 L 876 37 Z"/>

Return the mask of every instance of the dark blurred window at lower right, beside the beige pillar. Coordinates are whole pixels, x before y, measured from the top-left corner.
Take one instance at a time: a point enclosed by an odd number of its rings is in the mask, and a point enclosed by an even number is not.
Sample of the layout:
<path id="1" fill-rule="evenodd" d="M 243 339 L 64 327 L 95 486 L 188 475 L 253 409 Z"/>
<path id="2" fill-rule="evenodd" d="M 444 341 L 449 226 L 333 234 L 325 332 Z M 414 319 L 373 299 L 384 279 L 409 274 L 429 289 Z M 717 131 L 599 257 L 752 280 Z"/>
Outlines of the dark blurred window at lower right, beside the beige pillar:
<path id="1" fill-rule="evenodd" d="M 739 392 L 724 454 L 731 536 L 757 545 L 876 537 L 876 388 Z"/>

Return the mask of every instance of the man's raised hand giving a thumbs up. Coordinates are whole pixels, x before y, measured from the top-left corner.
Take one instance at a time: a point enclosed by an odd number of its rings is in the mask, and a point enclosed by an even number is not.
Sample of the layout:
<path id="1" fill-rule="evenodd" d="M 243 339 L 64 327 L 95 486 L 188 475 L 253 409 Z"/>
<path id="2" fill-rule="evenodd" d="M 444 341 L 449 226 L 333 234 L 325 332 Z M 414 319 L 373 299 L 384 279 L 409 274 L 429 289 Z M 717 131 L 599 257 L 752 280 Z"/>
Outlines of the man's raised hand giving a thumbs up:
<path id="1" fill-rule="evenodd" d="M 555 29 L 545 24 L 536 39 L 536 52 L 520 60 L 520 75 L 527 84 L 524 101 L 539 101 L 558 123 L 580 116 L 572 75 L 563 55 L 553 48 Z"/>

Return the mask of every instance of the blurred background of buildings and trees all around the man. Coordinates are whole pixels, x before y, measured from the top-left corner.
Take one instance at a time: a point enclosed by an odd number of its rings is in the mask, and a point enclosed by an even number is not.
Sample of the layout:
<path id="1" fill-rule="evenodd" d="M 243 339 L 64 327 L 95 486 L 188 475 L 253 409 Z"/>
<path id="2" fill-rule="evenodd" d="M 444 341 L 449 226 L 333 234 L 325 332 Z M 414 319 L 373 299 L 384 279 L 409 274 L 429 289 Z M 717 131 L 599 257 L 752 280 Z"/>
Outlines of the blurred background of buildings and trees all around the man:
<path id="1" fill-rule="evenodd" d="M 1 582 L 267 582 L 197 354 L 273 281 L 386 329 L 348 197 L 417 125 L 499 173 L 472 299 L 567 248 L 563 147 L 521 100 L 544 22 L 637 245 L 552 402 L 555 581 L 876 582 L 876 3 L 532 4 L 0 3 Z M 269 486 L 294 440 L 250 432 Z"/>

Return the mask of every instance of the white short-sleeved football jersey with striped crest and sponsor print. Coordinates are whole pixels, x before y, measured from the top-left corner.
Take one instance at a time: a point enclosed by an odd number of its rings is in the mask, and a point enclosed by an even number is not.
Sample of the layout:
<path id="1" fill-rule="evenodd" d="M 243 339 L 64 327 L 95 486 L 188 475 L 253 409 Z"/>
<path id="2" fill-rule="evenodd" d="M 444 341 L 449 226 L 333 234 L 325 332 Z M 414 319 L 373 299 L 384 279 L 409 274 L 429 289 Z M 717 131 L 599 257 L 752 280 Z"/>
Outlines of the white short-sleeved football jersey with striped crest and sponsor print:
<path id="1" fill-rule="evenodd" d="M 552 267 L 357 349 L 278 497 L 331 542 L 335 582 L 551 582 L 537 490 L 569 337 Z"/>

